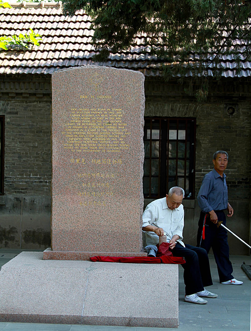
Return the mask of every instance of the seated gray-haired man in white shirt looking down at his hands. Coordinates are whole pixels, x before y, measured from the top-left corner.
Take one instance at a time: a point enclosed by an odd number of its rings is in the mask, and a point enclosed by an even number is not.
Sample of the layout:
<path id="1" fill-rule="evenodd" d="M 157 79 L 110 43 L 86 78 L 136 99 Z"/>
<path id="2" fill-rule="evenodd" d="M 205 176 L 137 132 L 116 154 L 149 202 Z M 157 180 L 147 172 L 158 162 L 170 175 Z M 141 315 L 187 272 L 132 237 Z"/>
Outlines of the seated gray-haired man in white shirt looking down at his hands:
<path id="1" fill-rule="evenodd" d="M 173 256 L 184 257 L 185 301 L 206 304 L 205 298 L 217 298 L 217 294 L 205 289 L 213 285 L 208 255 L 205 249 L 182 242 L 184 209 L 181 204 L 184 190 L 172 187 L 165 198 L 151 202 L 143 213 L 142 230 L 146 233 L 146 244 L 157 245 L 159 236 L 167 236 Z"/>

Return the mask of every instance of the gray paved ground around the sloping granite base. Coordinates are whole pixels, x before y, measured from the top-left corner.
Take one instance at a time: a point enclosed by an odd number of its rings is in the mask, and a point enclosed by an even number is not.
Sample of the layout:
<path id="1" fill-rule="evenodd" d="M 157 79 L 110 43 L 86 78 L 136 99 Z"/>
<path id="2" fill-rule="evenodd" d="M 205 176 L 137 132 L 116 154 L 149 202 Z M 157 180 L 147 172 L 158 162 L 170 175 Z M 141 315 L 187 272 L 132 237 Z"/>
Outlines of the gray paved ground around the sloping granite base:
<path id="1" fill-rule="evenodd" d="M 14 258 L 23 250 L 0 249 L 0 266 Z M 35 251 L 35 250 L 29 250 Z M 179 327 L 145 328 L 124 326 L 68 325 L 68 324 L 39 324 L 39 323 L 5 323 L 0 322 L 0 331 L 249 331 L 251 281 L 241 269 L 245 261 L 251 265 L 251 257 L 233 255 L 233 275 L 244 283 L 240 286 L 223 285 L 219 283 L 217 267 L 213 256 L 209 256 L 214 285 L 208 289 L 217 293 L 218 298 L 208 299 L 206 305 L 189 304 L 184 299 L 184 284 L 182 267 L 179 266 Z"/>

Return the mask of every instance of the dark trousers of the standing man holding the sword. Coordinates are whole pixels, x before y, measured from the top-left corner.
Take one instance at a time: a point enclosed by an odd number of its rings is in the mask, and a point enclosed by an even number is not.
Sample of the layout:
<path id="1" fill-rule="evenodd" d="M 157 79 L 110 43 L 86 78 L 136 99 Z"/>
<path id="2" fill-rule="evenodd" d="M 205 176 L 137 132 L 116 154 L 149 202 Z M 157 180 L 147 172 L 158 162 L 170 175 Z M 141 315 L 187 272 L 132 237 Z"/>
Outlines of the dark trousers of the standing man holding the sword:
<path id="1" fill-rule="evenodd" d="M 226 225 L 226 215 L 224 211 L 215 211 L 218 221 L 223 221 L 222 224 Z M 205 240 L 201 239 L 202 228 L 204 223 L 205 214 L 200 213 L 199 228 L 197 234 L 197 246 L 205 248 L 207 253 L 212 247 L 215 262 L 218 268 L 220 283 L 233 279 L 232 263 L 229 260 L 229 247 L 227 243 L 227 231 L 224 227 L 217 227 L 216 224 L 210 221 L 210 215 L 206 219 L 205 224 Z M 201 243 L 201 244 L 200 244 Z"/>

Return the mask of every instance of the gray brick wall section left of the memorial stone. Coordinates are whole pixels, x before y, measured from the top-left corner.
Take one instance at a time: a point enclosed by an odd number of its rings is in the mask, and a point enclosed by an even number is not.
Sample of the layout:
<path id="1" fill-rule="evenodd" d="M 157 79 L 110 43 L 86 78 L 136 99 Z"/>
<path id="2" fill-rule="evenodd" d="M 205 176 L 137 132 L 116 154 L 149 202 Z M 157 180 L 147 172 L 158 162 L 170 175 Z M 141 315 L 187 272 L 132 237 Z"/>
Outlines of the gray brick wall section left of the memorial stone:
<path id="1" fill-rule="evenodd" d="M 5 116 L 0 245 L 44 249 L 50 246 L 51 79 L 0 75 L 0 86 Z"/>

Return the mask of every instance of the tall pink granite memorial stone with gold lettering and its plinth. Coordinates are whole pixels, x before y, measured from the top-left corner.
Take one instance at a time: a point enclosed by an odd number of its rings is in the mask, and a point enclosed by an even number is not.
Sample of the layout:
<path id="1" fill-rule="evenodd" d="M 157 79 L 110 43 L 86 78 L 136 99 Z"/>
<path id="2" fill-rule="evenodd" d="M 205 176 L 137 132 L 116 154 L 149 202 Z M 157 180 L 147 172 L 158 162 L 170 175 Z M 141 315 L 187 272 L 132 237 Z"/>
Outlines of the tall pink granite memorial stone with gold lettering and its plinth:
<path id="1" fill-rule="evenodd" d="M 142 256 L 144 75 L 52 74 L 52 248 L 44 259 Z"/>

